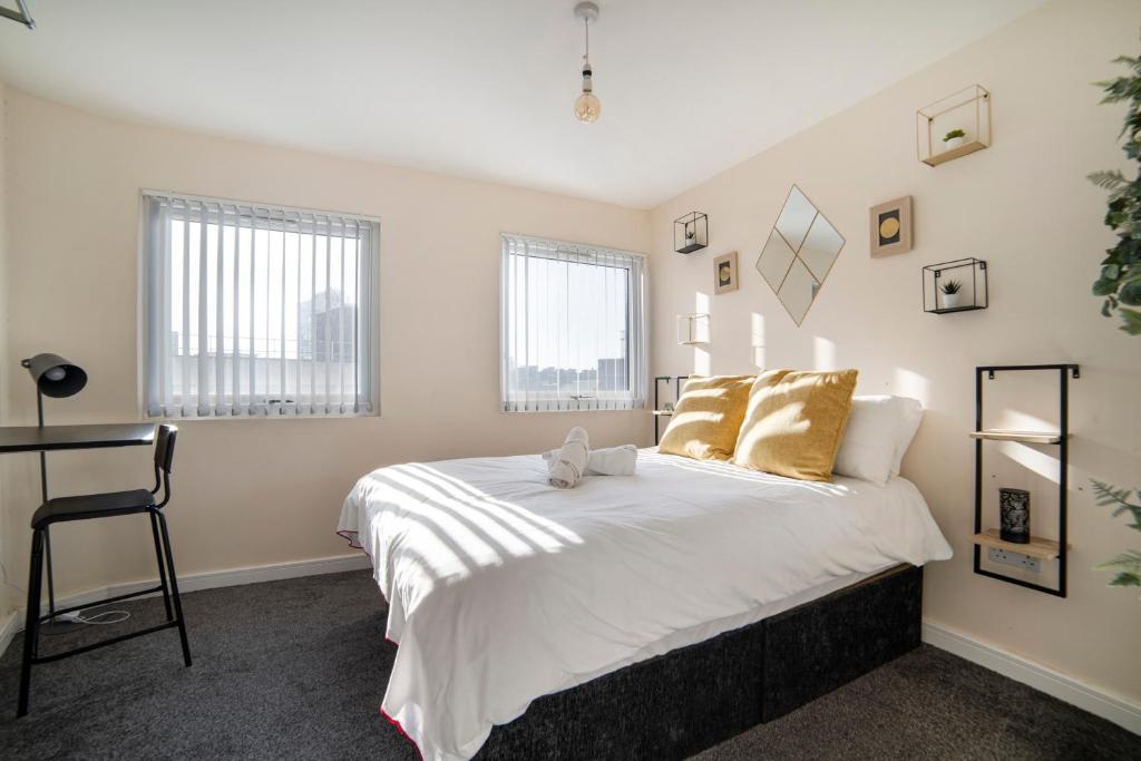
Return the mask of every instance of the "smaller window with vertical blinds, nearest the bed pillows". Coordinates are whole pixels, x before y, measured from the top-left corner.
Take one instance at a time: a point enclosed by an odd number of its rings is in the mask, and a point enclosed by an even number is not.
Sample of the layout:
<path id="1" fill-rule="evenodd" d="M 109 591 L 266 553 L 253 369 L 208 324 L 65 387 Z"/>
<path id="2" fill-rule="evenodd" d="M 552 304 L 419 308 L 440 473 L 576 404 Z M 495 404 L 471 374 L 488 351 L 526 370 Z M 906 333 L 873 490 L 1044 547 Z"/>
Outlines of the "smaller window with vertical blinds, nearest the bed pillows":
<path id="1" fill-rule="evenodd" d="M 502 246 L 503 410 L 645 406 L 642 254 L 519 235 Z"/>

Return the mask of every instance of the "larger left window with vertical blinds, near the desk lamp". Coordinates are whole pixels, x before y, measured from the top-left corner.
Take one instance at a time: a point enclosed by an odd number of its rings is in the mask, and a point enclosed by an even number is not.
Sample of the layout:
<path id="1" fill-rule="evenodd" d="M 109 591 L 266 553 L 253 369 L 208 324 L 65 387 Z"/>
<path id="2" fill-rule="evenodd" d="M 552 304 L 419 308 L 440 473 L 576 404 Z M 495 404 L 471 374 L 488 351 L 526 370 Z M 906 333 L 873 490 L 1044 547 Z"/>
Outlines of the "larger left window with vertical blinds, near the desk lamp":
<path id="1" fill-rule="evenodd" d="M 370 414 L 377 220 L 144 193 L 146 412 Z"/>

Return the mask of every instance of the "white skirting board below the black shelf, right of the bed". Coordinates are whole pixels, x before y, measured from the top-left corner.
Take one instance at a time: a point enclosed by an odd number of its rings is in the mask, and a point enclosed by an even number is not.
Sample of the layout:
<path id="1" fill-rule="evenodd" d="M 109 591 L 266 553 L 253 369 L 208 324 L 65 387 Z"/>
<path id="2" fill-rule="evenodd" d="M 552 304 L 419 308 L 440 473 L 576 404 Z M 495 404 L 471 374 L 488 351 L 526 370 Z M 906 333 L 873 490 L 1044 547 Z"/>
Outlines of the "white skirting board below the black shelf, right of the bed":
<path id="1" fill-rule="evenodd" d="M 923 641 L 1141 735 L 1141 705 L 1136 703 L 940 624 L 924 622 Z"/>

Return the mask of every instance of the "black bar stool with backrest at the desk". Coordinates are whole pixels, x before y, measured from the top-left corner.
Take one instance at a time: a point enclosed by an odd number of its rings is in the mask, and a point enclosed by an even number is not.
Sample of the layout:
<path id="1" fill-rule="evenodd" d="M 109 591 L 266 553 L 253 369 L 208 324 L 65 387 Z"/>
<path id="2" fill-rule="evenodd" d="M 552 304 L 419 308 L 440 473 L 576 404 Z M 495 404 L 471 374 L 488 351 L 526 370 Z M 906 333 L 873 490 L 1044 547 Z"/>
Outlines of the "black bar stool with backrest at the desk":
<path id="1" fill-rule="evenodd" d="M 160 426 L 159 440 L 154 447 L 154 488 L 149 492 L 139 488 L 130 492 L 110 492 L 106 494 L 84 494 L 80 496 L 63 496 L 48 500 L 37 509 L 32 516 L 32 565 L 27 582 L 27 618 L 24 624 L 24 664 L 19 674 L 19 705 L 16 709 L 16 717 L 27 714 L 27 697 L 32 685 L 32 666 L 40 663 L 58 661 L 80 653 L 88 653 L 96 648 L 115 645 L 123 640 L 153 634 L 163 629 L 178 628 L 178 635 L 183 641 L 183 661 L 191 665 L 191 646 L 186 640 L 186 624 L 183 620 L 183 604 L 178 597 L 178 578 L 175 575 L 175 558 L 170 551 L 170 535 L 167 533 L 167 517 L 162 515 L 162 508 L 170 502 L 170 464 L 175 459 L 175 439 L 178 437 L 178 429 L 175 426 Z M 162 502 L 155 503 L 159 488 L 162 487 Z M 120 594 L 100 602 L 116 602 L 140 594 L 162 592 L 163 604 L 167 606 L 167 621 L 157 626 L 151 626 L 129 634 L 112 637 L 92 645 L 84 645 L 63 653 L 40 657 L 39 634 L 40 624 L 55 618 L 64 613 L 80 610 L 90 605 L 78 605 L 62 610 L 55 609 L 54 591 L 49 592 L 48 615 L 40 615 L 40 597 L 43 591 L 43 550 L 44 545 L 50 548 L 48 539 L 48 527 L 51 524 L 67 520 L 88 520 L 91 518 L 110 518 L 112 516 L 131 516 L 139 512 L 151 515 L 151 533 L 154 535 L 154 554 L 159 561 L 159 585 L 138 592 Z M 51 553 L 48 550 L 48 578 L 51 577 Z"/>

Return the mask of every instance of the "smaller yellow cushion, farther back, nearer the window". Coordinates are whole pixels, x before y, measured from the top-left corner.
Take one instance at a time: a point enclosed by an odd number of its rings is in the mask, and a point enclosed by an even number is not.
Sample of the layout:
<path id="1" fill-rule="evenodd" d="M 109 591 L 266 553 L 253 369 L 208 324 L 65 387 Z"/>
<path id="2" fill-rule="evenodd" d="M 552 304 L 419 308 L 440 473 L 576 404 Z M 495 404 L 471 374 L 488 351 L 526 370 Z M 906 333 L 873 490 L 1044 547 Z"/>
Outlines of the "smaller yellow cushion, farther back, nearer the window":
<path id="1" fill-rule="evenodd" d="M 690 378 L 681 389 L 657 451 L 694 460 L 731 458 L 753 379 L 753 375 Z"/>

